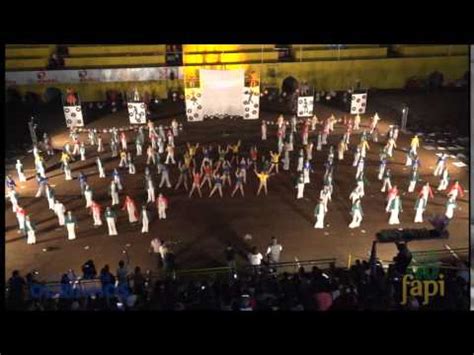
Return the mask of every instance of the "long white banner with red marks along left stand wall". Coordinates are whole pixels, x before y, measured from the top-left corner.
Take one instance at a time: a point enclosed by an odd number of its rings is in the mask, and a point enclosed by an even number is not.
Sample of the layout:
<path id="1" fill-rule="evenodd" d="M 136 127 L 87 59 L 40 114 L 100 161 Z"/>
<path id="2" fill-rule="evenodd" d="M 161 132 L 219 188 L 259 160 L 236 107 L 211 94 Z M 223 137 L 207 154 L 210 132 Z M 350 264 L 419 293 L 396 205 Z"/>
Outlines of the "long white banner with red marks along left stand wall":
<path id="1" fill-rule="evenodd" d="M 78 84 L 153 81 L 183 78 L 181 67 L 77 69 L 6 72 L 6 85 Z"/>

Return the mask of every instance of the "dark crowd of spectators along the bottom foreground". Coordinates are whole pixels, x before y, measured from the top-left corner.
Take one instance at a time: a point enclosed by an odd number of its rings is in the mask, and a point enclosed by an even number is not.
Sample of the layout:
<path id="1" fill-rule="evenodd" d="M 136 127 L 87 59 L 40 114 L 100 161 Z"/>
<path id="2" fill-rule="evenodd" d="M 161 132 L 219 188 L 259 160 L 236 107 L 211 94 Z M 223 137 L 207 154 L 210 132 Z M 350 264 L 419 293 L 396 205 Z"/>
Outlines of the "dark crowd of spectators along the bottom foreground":
<path id="1" fill-rule="evenodd" d="M 279 248 L 274 248 L 274 253 Z M 233 251 L 226 250 L 233 265 Z M 255 253 L 253 253 L 255 255 Z M 105 265 L 98 273 L 94 262 L 82 267 L 82 279 L 96 280 L 93 292 L 77 287 L 75 275 L 64 274 L 60 292 L 38 296 L 41 286 L 35 273 L 26 279 L 15 271 L 8 281 L 7 307 L 20 310 L 467 310 L 469 309 L 469 271 L 466 265 L 442 269 L 445 294 L 435 295 L 424 304 L 422 297 L 408 297 L 401 304 L 402 278 L 410 271 L 410 253 L 399 248 L 388 268 L 381 263 L 356 260 L 347 268 L 299 267 L 278 272 L 272 263 L 253 263 L 244 270 L 231 268 L 221 275 L 196 280 L 168 273 L 153 278 L 140 267 L 133 270 L 124 261 L 115 272 Z M 408 271 L 407 271 L 408 270 Z M 82 281 L 85 282 L 85 281 Z M 89 290 L 90 291 L 90 290 Z"/>

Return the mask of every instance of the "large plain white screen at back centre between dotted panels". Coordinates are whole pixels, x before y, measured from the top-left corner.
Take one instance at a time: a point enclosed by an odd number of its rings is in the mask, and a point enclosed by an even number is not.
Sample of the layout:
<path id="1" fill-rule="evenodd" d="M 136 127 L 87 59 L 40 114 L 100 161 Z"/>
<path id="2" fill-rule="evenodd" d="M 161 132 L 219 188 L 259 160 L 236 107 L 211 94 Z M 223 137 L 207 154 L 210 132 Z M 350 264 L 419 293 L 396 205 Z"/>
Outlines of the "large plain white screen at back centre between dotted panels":
<path id="1" fill-rule="evenodd" d="M 203 114 L 243 116 L 244 70 L 200 69 Z"/>

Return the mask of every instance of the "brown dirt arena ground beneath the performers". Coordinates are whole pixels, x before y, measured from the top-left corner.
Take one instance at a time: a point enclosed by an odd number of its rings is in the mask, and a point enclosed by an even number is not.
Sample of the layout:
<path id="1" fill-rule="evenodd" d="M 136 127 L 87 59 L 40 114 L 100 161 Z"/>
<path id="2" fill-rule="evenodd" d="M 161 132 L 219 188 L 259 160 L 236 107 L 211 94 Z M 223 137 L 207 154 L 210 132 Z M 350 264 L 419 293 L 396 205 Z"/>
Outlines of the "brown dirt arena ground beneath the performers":
<path id="1" fill-rule="evenodd" d="M 401 102 L 406 102 L 403 94 L 393 94 L 390 100 L 384 101 L 380 97 L 370 101 L 369 112 L 363 116 L 362 127 L 368 126 L 369 117 L 375 111 L 379 112 L 382 121 L 379 123 L 380 131 L 386 132 L 388 125 L 398 119 L 394 109 Z M 398 101 L 397 101 L 398 100 Z M 445 117 L 437 115 L 432 108 L 432 102 L 439 102 L 439 97 L 427 95 L 419 99 L 429 112 L 429 119 L 432 122 L 439 122 L 443 127 Z M 396 101 L 396 102 L 395 102 Z M 446 100 L 445 105 L 449 106 L 446 111 L 466 112 L 464 108 L 459 108 L 456 101 Z M 467 102 L 466 102 L 467 105 Z M 387 108 L 390 107 L 390 108 Z M 457 108 L 456 108 L 457 107 Z M 457 110 L 457 111 L 456 111 Z M 342 111 L 317 105 L 315 112 L 319 118 L 326 118 L 331 113 L 336 117 L 342 116 Z M 464 120 L 468 116 L 463 113 L 453 115 L 457 117 L 456 126 L 464 125 Z M 261 113 L 261 118 L 266 120 L 276 120 L 274 113 Z M 183 123 L 184 129 L 176 139 L 178 151 L 184 152 L 186 142 L 208 143 L 235 143 L 242 140 L 241 151 L 248 152 L 251 144 L 257 142 L 260 152 L 268 152 L 276 149 L 276 127 L 269 127 L 269 139 L 262 144 L 260 141 L 261 120 L 219 120 L 205 121 L 199 123 L 185 122 L 184 116 L 177 117 Z M 285 118 L 289 118 L 286 116 Z M 53 118 L 51 118 L 53 119 Z M 56 127 L 64 127 L 63 118 L 58 120 Z M 159 123 L 168 124 L 170 119 L 160 120 Z M 453 120 L 450 121 L 454 122 Z M 125 111 L 116 114 L 109 114 L 88 124 L 88 127 L 109 128 L 111 126 L 128 126 L 128 118 Z M 335 132 L 330 135 L 329 143 L 337 145 L 343 134 L 342 124 L 337 124 Z M 359 131 L 360 134 L 360 131 Z M 359 134 L 354 134 L 351 143 L 359 141 Z M 53 136 L 53 144 L 60 149 L 67 139 L 66 129 L 61 129 Z M 82 135 L 85 138 L 85 134 Z M 108 135 L 104 136 L 104 141 L 108 143 Z M 401 134 L 398 140 L 398 148 L 394 154 L 394 160 L 390 163 L 392 169 L 392 183 L 397 184 L 403 191 L 402 201 L 404 212 L 401 214 L 400 228 L 430 228 L 429 222 L 423 225 L 414 224 L 414 202 L 416 194 L 406 193 L 408 186 L 408 172 L 405 168 L 405 152 L 402 149 L 408 147 L 411 135 Z M 101 268 L 104 264 L 109 264 L 115 269 L 118 261 L 125 259 L 123 250 L 128 250 L 130 264 L 132 267 L 141 266 L 142 269 L 156 269 L 155 259 L 148 253 L 150 240 L 153 237 L 160 237 L 164 240 L 179 242 L 175 247 L 177 255 L 177 265 L 179 268 L 213 267 L 224 264 L 224 248 L 227 242 L 233 243 L 241 255 L 240 263 L 246 263 L 244 257 L 253 245 L 264 252 L 271 236 L 276 236 L 283 245 L 282 261 L 310 260 L 318 258 L 337 258 L 339 265 L 346 265 L 348 256 L 352 259 L 365 258 L 370 251 L 375 233 L 381 229 L 388 228 L 388 214 L 384 212 L 385 194 L 380 192 L 381 182 L 377 180 L 378 153 L 384 144 L 384 139 L 379 143 L 370 142 L 368 162 L 366 166 L 366 176 L 370 185 L 366 186 L 366 196 L 362 201 L 364 209 L 364 220 L 361 228 L 351 230 L 348 228 L 351 216 L 349 194 L 353 189 L 355 168 L 352 167 L 353 156 L 346 153 L 342 162 L 336 159 L 336 171 L 334 181 L 333 200 L 329 204 L 329 212 L 326 215 L 326 228 L 316 230 L 313 228 L 313 210 L 322 188 L 322 175 L 324 173 L 323 163 L 326 160 L 329 145 L 323 148 L 322 152 L 314 152 L 313 163 L 316 172 L 311 175 L 311 183 L 305 188 L 305 198 L 296 200 L 296 189 L 293 186 L 294 170 L 296 158 L 293 157 L 291 172 L 280 171 L 269 180 L 268 196 L 256 196 L 257 181 L 253 174 L 249 174 L 250 179 L 245 185 L 245 198 L 236 195 L 230 198 L 230 188 L 224 188 L 224 198 L 214 195 L 208 198 L 209 190 L 203 188 L 203 198 L 195 194 L 188 198 L 184 188 L 178 191 L 174 189 L 157 189 L 169 197 L 168 218 L 158 220 L 156 206 L 150 206 L 153 220 L 150 225 L 149 234 L 141 234 L 139 226 L 132 226 L 128 223 L 127 213 L 120 211 L 117 228 L 119 235 L 110 237 L 107 235 L 107 227 L 104 225 L 97 229 L 92 227 L 92 217 L 85 209 L 85 200 L 80 195 L 79 182 L 77 180 L 65 181 L 64 175 L 59 171 L 55 156 L 47 162 L 47 176 L 49 182 L 54 186 L 56 195 L 65 204 L 67 209 L 73 211 L 78 219 L 78 238 L 75 241 L 68 241 L 66 231 L 60 228 L 55 214 L 48 209 L 45 197 L 34 198 L 36 192 L 36 182 L 33 179 L 33 158 L 31 154 L 25 158 L 24 164 L 28 181 L 19 185 L 20 205 L 31 213 L 31 219 L 37 225 L 37 244 L 27 245 L 26 238 L 17 233 L 17 221 L 12 212 L 11 205 L 7 202 L 5 224 L 6 224 L 6 276 L 9 277 L 14 269 L 20 270 L 23 274 L 38 269 L 43 279 L 58 280 L 60 275 L 69 268 L 80 272 L 81 265 L 88 259 L 93 259 L 96 266 Z M 297 141 L 299 142 L 299 141 Z M 422 140 L 422 145 L 424 145 Z M 106 145 L 106 150 L 108 144 Z M 85 162 L 75 162 L 72 164 L 73 176 L 76 177 L 79 171 L 88 175 L 89 185 L 94 191 L 94 196 L 102 206 L 110 204 L 108 196 L 108 186 L 110 177 L 99 179 L 95 165 L 95 152 L 88 147 L 89 159 Z M 135 147 L 133 146 L 133 152 Z M 434 187 L 438 185 L 438 177 L 433 176 L 436 162 L 435 151 L 426 149 L 420 150 L 421 176 L 424 181 L 429 181 Z M 104 154 L 106 172 L 118 165 L 118 158 L 109 159 L 110 153 Z M 144 191 L 143 171 L 146 157 L 135 159 L 137 174 L 129 175 L 122 173 L 124 181 L 124 192 L 120 194 L 123 201 L 125 194 L 131 195 L 137 203 L 141 204 L 146 198 Z M 444 249 L 448 244 L 451 248 L 465 248 L 469 246 L 469 180 L 468 167 L 456 168 L 452 165 L 456 159 L 449 159 L 449 166 L 452 178 L 460 180 L 465 189 L 465 196 L 458 198 L 459 209 L 455 213 L 455 219 L 449 225 L 450 238 L 448 240 L 427 240 L 410 243 L 410 248 L 416 250 Z M 8 170 L 8 169 L 7 169 Z M 152 171 L 155 171 L 152 169 Z M 11 171 L 16 178 L 16 171 Z M 177 169 L 171 172 L 171 182 L 177 181 Z M 155 177 L 155 185 L 159 182 Z M 417 185 L 419 190 L 422 183 Z M 425 220 L 432 214 L 442 214 L 445 210 L 446 194 L 436 193 L 435 198 L 429 201 L 428 209 L 425 212 Z M 247 243 L 244 241 L 245 234 L 251 234 L 253 239 Z M 43 251 L 43 249 L 47 251 Z M 393 244 L 379 244 L 378 254 L 383 260 L 391 260 L 396 253 Z"/>

